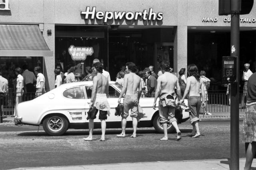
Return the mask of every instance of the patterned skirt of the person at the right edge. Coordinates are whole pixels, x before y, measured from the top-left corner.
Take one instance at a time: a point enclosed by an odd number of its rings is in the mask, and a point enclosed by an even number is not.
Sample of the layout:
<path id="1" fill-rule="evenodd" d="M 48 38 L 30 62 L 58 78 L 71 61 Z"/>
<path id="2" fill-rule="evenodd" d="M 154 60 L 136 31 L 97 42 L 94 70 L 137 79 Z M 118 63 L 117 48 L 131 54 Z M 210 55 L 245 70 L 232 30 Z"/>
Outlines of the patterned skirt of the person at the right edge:
<path id="1" fill-rule="evenodd" d="M 246 106 L 242 141 L 244 143 L 256 142 L 256 104 Z"/>

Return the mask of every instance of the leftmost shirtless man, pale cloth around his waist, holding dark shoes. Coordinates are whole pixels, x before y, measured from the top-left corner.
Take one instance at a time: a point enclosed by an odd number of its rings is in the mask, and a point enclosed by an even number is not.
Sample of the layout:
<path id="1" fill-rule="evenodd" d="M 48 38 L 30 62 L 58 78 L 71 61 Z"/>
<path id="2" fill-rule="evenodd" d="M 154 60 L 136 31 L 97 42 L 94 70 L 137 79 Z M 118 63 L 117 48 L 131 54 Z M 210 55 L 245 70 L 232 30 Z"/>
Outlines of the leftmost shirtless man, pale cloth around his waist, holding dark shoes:
<path id="1" fill-rule="evenodd" d="M 106 119 L 110 106 L 108 104 L 107 95 L 108 95 L 108 79 L 102 75 L 103 65 L 99 62 L 92 64 L 92 70 L 97 74 L 93 78 L 93 88 L 92 88 L 92 98 L 90 107 L 96 107 L 100 110 L 99 119 L 101 121 L 101 138 L 100 141 L 105 141 L 105 131 L 106 131 Z M 92 132 L 94 128 L 94 119 L 95 117 L 90 117 L 89 119 L 89 136 L 84 138 L 85 141 L 92 141 Z"/>

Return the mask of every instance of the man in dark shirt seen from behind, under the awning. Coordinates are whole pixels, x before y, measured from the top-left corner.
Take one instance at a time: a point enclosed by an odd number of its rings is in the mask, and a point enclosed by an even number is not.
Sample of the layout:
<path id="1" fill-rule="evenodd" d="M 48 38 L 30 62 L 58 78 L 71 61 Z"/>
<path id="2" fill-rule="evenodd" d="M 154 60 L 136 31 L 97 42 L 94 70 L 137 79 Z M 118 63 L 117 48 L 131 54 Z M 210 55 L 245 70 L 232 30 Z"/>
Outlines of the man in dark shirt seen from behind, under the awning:
<path id="1" fill-rule="evenodd" d="M 22 66 L 22 76 L 24 78 L 24 90 L 25 90 L 25 101 L 32 100 L 35 96 L 36 89 L 34 83 L 36 82 L 36 76 L 33 72 L 28 70 L 28 65 Z"/>

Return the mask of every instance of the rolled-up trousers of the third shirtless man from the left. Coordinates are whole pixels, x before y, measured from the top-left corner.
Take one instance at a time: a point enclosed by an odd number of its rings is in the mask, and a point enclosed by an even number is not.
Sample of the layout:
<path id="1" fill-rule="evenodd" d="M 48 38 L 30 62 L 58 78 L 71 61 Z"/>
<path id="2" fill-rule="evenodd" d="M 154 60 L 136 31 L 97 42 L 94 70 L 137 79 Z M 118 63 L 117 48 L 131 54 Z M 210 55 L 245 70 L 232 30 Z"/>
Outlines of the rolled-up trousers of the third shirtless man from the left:
<path id="1" fill-rule="evenodd" d="M 177 121 L 175 118 L 176 107 L 163 107 L 162 102 L 159 100 L 158 108 L 161 117 L 160 123 L 167 123 L 168 121 L 172 123 L 173 121 Z"/>

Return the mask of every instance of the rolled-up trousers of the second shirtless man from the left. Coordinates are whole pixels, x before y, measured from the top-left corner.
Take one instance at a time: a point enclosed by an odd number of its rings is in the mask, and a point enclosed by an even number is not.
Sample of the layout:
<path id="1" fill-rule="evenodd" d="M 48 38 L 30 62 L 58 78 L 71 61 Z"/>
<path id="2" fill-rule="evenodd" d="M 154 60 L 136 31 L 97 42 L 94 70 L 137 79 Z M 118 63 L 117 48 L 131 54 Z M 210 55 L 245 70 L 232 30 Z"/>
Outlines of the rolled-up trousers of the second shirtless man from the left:
<path id="1" fill-rule="evenodd" d="M 124 113 L 122 117 L 128 117 L 129 110 L 131 109 L 131 117 L 138 117 L 138 95 L 125 95 L 124 97 Z"/>

